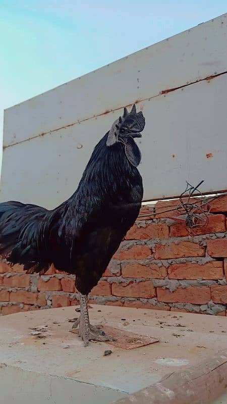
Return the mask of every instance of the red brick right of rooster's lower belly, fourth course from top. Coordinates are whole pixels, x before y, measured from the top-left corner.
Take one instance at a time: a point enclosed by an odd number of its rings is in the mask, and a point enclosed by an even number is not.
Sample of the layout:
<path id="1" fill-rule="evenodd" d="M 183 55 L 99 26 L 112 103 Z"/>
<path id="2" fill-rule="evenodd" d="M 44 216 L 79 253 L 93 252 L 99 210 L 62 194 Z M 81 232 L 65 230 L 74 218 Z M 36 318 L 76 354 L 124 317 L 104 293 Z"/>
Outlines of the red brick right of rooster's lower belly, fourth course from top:
<path id="1" fill-rule="evenodd" d="M 167 270 L 164 266 L 158 267 L 156 264 L 146 266 L 137 262 L 122 263 L 123 278 L 164 279 L 166 275 Z"/>

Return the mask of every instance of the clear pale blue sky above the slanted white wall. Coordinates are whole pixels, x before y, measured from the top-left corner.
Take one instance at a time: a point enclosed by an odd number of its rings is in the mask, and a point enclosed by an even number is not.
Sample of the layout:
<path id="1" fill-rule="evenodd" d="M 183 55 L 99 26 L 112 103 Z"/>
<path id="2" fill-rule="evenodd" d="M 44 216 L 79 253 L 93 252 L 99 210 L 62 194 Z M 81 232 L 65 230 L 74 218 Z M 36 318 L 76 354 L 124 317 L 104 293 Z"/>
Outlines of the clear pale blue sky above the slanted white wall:
<path id="1" fill-rule="evenodd" d="M 226 0 L 0 0 L 0 150 L 4 109 L 226 11 Z"/>

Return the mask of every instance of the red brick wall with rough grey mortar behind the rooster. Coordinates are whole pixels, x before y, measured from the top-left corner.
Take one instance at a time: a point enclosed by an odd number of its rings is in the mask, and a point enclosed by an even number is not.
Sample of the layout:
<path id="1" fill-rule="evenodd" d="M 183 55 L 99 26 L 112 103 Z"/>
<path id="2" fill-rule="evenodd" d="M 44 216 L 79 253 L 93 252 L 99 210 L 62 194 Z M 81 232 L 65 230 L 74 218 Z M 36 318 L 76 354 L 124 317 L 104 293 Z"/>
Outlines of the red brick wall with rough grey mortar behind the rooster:
<path id="1" fill-rule="evenodd" d="M 179 201 L 173 200 L 176 206 Z M 159 201 L 163 210 L 169 201 Z M 157 214 L 144 206 L 92 290 L 90 302 L 112 306 L 225 316 L 227 308 L 227 197 L 211 203 L 205 228 L 189 236 L 177 211 Z M 168 216 L 168 217 L 166 217 Z M 77 305 L 74 276 L 50 267 L 46 275 L 26 275 L 23 267 L 0 263 L 0 313 Z"/>

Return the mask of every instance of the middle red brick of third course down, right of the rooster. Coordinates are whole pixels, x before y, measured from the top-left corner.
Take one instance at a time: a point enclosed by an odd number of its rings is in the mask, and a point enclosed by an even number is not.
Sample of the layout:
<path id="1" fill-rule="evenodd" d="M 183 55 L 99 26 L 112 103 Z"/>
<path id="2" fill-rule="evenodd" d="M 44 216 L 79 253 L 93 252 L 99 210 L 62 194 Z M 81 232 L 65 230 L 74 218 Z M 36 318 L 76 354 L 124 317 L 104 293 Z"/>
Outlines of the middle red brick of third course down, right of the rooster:
<path id="1" fill-rule="evenodd" d="M 203 257 L 204 247 L 191 241 L 172 242 L 169 245 L 158 244 L 155 246 L 154 258 L 156 260 L 166 260 L 183 257 Z"/>

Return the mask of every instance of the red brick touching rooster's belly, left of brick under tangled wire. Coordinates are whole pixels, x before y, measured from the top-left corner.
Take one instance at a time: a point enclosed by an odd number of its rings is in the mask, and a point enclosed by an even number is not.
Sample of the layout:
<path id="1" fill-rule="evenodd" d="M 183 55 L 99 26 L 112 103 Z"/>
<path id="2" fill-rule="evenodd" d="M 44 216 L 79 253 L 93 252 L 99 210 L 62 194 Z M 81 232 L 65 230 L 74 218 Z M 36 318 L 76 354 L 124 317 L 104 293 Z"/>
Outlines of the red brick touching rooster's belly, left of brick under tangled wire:
<path id="1" fill-rule="evenodd" d="M 151 238 L 168 238 L 169 230 L 166 224 L 151 223 L 146 227 L 137 227 L 135 224 L 125 236 L 126 240 L 143 240 Z"/>

